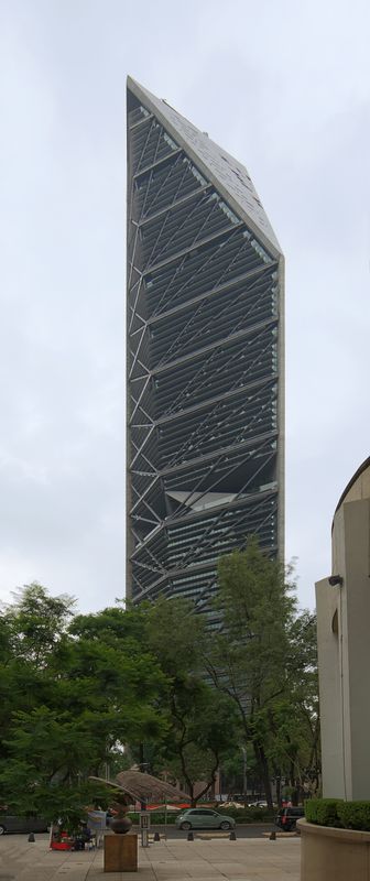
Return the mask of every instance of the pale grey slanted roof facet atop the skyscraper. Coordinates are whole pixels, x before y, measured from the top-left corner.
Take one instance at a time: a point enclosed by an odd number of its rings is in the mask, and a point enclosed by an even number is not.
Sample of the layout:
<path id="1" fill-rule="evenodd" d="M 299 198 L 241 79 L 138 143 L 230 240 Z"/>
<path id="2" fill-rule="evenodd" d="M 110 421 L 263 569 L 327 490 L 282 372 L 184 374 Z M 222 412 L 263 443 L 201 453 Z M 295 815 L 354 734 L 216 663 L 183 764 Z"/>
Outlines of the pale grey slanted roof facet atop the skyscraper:
<path id="1" fill-rule="evenodd" d="M 260 237 L 262 243 L 270 248 L 273 255 L 279 257 L 282 253 L 281 247 L 247 168 L 165 100 L 156 98 L 131 77 L 128 77 L 128 90 L 162 122 L 230 207 Z"/>

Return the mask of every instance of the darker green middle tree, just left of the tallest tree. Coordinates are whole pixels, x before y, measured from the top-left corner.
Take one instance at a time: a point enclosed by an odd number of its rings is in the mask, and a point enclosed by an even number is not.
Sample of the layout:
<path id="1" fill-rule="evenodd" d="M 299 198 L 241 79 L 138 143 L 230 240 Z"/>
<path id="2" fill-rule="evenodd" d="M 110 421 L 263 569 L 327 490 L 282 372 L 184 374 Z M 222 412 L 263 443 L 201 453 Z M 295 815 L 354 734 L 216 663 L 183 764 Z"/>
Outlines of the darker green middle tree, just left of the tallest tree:
<path id="1" fill-rule="evenodd" d="M 168 730 L 156 768 L 186 783 L 194 805 L 215 783 L 220 760 L 236 736 L 235 709 L 205 679 L 205 623 L 192 603 L 160 599 L 148 608 L 146 632 L 150 650 L 167 677 L 162 700 Z"/>

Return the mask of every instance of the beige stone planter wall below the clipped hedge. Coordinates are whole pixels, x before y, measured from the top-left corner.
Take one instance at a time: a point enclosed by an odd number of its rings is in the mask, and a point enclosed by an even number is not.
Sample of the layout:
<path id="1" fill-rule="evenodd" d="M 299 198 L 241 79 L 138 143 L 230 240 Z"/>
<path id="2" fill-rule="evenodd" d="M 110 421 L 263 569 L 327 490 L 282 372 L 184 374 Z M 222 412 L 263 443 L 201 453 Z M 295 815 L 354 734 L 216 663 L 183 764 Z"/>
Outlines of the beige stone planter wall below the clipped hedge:
<path id="1" fill-rule="evenodd" d="M 370 833 L 297 822 L 301 881 L 370 881 Z"/>

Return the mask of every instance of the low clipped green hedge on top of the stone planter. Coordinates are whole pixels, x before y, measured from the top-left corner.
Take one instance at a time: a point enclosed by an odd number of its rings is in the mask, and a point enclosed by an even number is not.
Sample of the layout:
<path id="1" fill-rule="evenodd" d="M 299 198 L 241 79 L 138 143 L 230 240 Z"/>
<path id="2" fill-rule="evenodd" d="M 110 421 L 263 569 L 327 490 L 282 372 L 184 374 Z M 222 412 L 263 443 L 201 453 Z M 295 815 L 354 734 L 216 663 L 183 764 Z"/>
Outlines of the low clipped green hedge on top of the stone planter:
<path id="1" fill-rule="evenodd" d="M 317 826 L 370 831 L 370 802 L 313 798 L 305 803 L 305 816 Z"/>

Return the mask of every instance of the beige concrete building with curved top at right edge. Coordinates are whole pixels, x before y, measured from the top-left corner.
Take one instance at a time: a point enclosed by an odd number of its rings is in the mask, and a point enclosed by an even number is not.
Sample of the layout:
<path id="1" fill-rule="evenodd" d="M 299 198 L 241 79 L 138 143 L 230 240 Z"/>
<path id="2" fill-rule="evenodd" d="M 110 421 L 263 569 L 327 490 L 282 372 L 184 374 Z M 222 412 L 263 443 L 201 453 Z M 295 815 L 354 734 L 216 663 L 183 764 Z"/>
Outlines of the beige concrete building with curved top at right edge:
<path id="1" fill-rule="evenodd" d="M 323 794 L 370 798 L 370 460 L 334 516 L 333 575 L 316 585 Z"/>

